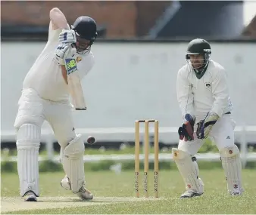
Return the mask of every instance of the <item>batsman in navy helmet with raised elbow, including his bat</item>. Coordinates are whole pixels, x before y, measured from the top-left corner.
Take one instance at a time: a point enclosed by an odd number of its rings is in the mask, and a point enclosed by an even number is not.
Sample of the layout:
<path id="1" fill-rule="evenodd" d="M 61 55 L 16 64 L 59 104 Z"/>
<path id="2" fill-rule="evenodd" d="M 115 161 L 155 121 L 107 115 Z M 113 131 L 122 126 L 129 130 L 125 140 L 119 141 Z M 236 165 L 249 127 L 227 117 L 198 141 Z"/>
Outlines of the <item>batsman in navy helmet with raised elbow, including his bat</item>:
<path id="1" fill-rule="evenodd" d="M 96 23 L 83 16 L 69 26 L 58 8 L 52 8 L 49 17 L 48 41 L 23 81 L 14 122 L 20 195 L 25 201 L 39 197 L 41 127 L 48 121 L 61 146 L 65 173 L 61 186 L 81 199 L 92 199 L 84 187 L 85 146 L 81 135 L 76 134 L 70 96 L 76 109 L 86 109 L 80 79 L 95 63 L 91 46 L 97 36 Z"/>

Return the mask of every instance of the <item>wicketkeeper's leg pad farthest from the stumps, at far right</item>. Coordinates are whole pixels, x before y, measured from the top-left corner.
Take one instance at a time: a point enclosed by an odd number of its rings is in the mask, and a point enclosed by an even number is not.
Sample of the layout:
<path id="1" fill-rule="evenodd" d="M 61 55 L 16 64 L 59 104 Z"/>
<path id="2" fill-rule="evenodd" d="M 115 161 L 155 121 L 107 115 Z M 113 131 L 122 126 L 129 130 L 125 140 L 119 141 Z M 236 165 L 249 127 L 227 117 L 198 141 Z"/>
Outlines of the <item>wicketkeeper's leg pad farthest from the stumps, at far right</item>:
<path id="1" fill-rule="evenodd" d="M 220 150 L 220 158 L 226 175 L 228 192 L 241 194 L 242 189 L 242 164 L 239 149 L 236 145 L 229 146 Z"/>

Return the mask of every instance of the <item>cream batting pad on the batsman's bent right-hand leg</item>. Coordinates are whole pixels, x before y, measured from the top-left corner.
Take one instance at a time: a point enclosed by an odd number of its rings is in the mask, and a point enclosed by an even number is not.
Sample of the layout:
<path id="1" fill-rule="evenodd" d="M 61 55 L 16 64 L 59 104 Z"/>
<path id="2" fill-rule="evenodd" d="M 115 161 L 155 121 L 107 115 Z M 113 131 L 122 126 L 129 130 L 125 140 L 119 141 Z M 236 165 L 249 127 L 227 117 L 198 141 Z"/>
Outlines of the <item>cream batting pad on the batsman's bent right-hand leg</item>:
<path id="1" fill-rule="evenodd" d="M 81 135 L 78 134 L 70 141 L 64 149 L 64 156 L 62 158 L 62 165 L 70 180 L 70 186 L 73 193 L 79 191 L 85 181 L 83 154 L 85 151 Z"/>

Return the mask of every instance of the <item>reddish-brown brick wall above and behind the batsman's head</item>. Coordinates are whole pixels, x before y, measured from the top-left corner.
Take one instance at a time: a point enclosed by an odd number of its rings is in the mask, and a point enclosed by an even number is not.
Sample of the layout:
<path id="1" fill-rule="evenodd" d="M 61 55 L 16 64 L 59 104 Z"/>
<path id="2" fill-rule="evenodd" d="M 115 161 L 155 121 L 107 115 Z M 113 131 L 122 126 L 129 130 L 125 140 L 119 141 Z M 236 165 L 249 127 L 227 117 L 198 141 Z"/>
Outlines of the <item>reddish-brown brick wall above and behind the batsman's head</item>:
<path id="1" fill-rule="evenodd" d="M 137 9 L 133 1 L 3 1 L 1 6 L 2 25 L 48 26 L 49 11 L 58 7 L 69 23 L 82 15 L 95 18 L 98 25 L 107 27 L 108 38 L 136 35 Z"/>

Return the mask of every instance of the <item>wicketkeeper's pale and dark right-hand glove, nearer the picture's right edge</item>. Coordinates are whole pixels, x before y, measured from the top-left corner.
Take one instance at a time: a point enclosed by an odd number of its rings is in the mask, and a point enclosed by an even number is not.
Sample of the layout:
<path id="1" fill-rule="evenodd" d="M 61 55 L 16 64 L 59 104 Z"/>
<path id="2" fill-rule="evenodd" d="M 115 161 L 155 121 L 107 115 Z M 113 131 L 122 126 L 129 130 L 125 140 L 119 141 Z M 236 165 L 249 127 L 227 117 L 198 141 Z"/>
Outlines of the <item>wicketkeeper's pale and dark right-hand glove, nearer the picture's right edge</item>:
<path id="1" fill-rule="evenodd" d="M 208 112 L 208 115 L 204 118 L 204 120 L 199 121 L 198 128 L 196 131 L 196 135 L 198 139 L 206 139 L 210 132 L 212 127 L 214 127 L 214 124 L 217 122 L 217 120 L 220 117 L 215 112 Z"/>

